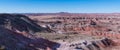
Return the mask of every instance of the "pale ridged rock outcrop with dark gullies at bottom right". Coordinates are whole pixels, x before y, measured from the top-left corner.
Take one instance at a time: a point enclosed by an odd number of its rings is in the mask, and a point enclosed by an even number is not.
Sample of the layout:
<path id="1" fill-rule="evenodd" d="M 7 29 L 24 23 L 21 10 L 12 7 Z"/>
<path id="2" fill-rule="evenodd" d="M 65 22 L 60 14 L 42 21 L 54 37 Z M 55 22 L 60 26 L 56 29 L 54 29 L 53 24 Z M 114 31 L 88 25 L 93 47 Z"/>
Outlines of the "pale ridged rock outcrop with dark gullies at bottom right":
<path id="1" fill-rule="evenodd" d="M 58 50 L 111 50 L 110 47 L 114 47 L 114 41 L 108 38 L 84 41 L 75 44 L 64 45 L 58 48 Z"/>

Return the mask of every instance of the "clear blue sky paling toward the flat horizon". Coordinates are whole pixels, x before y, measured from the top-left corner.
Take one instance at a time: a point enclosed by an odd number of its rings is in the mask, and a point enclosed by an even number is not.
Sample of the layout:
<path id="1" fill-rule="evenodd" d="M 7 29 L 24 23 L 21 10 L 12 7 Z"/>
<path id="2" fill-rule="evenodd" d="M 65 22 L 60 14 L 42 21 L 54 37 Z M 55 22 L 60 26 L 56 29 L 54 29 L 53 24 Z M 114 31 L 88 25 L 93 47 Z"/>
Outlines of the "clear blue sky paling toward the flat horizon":
<path id="1" fill-rule="evenodd" d="M 120 13 L 120 0 L 0 0 L 0 13 Z"/>

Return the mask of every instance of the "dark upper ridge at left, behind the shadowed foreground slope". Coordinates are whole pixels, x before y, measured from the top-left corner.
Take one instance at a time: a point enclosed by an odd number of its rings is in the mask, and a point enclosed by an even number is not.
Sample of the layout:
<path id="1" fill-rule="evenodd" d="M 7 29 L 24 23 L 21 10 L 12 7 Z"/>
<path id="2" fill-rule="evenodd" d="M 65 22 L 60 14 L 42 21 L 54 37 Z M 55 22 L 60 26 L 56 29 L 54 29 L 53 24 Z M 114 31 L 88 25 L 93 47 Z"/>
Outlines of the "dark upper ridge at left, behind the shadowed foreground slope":
<path id="1" fill-rule="evenodd" d="M 0 26 L 18 32 L 51 32 L 43 28 L 25 15 L 20 14 L 0 14 Z"/>

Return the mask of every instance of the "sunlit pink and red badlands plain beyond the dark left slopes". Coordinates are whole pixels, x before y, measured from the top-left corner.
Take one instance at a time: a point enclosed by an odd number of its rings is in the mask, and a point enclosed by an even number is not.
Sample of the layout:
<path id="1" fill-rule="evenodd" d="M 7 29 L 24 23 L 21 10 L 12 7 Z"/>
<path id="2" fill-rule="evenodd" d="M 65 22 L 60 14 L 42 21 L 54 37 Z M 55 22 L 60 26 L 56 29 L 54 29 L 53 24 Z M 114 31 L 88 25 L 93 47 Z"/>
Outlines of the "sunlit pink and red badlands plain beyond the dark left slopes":
<path id="1" fill-rule="evenodd" d="M 57 50 L 119 50 L 119 13 L 26 14 L 51 34 L 36 33 L 61 44 Z"/>

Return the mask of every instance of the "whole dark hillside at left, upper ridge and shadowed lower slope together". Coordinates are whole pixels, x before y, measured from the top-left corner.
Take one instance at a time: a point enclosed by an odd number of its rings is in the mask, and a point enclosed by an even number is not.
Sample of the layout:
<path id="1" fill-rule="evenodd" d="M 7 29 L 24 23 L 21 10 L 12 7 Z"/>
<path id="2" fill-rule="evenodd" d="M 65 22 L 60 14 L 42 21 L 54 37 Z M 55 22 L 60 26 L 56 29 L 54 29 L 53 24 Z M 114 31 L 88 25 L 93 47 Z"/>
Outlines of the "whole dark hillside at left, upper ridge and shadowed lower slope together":
<path id="1" fill-rule="evenodd" d="M 0 50 L 52 50 L 59 43 L 36 37 L 36 32 L 51 32 L 20 14 L 0 14 Z"/>

